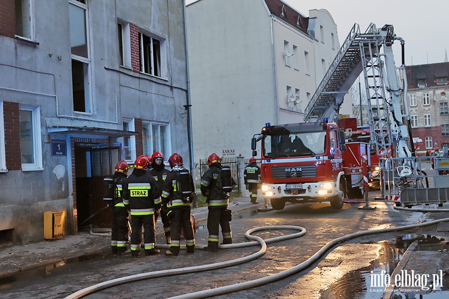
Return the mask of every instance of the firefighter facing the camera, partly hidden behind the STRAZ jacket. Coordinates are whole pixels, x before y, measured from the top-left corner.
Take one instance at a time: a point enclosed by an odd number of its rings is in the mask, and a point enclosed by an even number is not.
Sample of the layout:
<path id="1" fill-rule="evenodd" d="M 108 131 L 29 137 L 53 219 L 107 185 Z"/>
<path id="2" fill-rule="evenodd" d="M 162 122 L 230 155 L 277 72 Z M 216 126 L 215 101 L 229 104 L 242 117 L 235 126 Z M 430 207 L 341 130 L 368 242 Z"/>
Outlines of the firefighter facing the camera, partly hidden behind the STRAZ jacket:
<path id="1" fill-rule="evenodd" d="M 149 156 L 147 156 L 148 158 Z M 167 174 L 170 172 L 169 169 L 165 168 L 164 165 L 164 154 L 160 151 L 156 151 L 149 158 L 151 169 L 147 172 L 150 173 L 157 181 L 159 192 L 162 193 L 162 183 L 165 181 Z M 162 224 L 164 226 L 164 233 L 166 238 L 166 244 L 171 243 L 170 239 L 170 219 L 167 217 L 167 205 L 162 204 L 161 210 L 154 214 L 154 222 L 158 221 L 159 214 L 161 214 Z"/>

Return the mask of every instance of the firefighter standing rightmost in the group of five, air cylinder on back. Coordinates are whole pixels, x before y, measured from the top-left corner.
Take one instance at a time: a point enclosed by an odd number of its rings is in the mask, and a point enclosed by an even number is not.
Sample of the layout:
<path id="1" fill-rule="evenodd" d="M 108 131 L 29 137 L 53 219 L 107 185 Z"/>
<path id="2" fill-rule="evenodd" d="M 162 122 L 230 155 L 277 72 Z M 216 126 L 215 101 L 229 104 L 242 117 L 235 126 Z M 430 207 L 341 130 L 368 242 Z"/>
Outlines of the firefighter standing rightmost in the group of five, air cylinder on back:
<path id="1" fill-rule="evenodd" d="M 222 164 L 218 154 L 213 153 L 208 158 L 209 169 L 201 178 L 201 193 L 207 197 L 208 203 L 208 246 L 206 251 L 218 251 L 219 247 L 219 226 L 222 227 L 223 244 L 232 243 L 232 234 L 229 224 L 229 194 L 223 191 L 221 170 Z M 229 175 L 231 188 L 235 186 L 234 179 Z"/>

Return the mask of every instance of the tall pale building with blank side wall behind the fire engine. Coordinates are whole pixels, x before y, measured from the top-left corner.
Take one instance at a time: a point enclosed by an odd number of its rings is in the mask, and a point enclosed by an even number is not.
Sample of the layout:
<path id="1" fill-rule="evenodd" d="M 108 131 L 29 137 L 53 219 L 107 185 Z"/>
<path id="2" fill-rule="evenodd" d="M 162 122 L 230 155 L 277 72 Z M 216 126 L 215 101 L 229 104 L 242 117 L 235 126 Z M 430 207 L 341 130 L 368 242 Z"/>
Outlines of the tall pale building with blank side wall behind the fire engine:
<path id="1" fill-rule="evenodd" d="M 328 11 L 307 17 L 281 0 L 198 0 L 187 24 L 196 165 L 213 152 L 251 156 L 265 123 L 302 122 L 340 47 Z"/>

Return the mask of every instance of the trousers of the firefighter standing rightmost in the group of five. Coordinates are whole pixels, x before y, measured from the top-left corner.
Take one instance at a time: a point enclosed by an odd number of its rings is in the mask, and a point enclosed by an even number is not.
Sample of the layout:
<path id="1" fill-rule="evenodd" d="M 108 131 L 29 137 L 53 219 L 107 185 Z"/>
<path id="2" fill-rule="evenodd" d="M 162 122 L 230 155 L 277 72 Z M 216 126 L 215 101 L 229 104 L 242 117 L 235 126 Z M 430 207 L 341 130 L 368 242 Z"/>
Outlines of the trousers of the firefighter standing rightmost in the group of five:
<path id="1" fill-rule="evenodd" d="M 232 234 L 228 216 L 226 214 L 227 206 L 220 208 L 209 208 L 208 214 L 208 246 L 218 248 L 219 244 L 219 226 L 222 227 L 223 244 L 232 243 Z"/>

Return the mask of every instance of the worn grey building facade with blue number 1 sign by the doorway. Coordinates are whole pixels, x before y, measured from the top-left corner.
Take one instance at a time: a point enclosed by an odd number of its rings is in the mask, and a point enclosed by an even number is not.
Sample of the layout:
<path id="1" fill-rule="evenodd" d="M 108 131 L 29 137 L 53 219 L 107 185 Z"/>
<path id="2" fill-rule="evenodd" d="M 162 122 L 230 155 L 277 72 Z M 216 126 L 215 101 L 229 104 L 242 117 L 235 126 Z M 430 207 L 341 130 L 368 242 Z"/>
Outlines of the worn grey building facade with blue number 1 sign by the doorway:
<path id="1" fill-rule="evenodd" d="M 43 239 L 45 211 L 107 226 L 121 159 L 190 166 L 183 0 L 0 0 L 0 53 L 1 239 Z"/>

